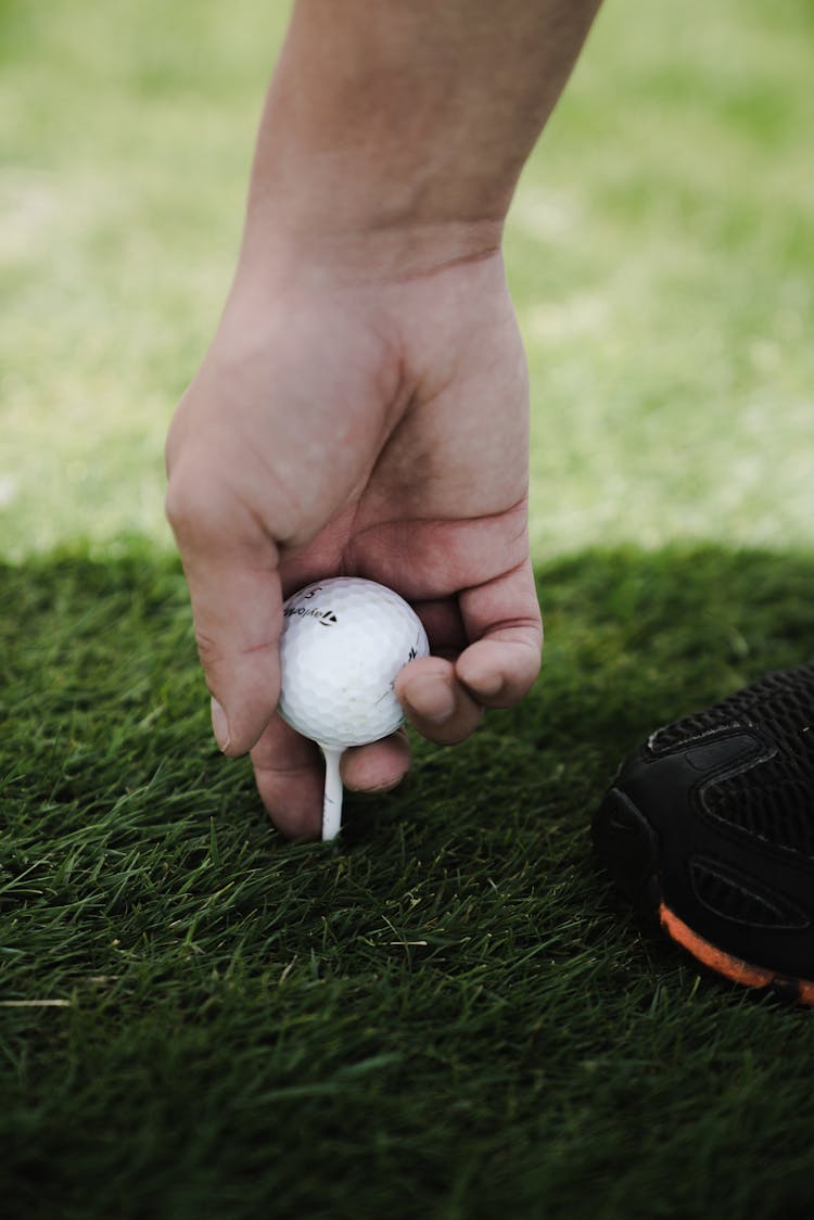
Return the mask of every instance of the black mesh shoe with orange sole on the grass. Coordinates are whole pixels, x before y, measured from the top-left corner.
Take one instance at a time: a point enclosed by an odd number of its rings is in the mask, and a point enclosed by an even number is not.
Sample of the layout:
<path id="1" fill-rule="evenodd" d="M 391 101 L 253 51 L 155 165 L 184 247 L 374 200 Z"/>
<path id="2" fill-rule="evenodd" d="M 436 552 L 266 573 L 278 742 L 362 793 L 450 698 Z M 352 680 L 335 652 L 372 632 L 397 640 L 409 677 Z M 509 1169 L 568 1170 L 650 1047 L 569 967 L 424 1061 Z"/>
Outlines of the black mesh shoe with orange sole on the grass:
<path id="1" fill-rule="evenodd" d="M 699 961 L 814 1005 L 814 664 L 657 730 L 592 830 L 616 884 Z"/>

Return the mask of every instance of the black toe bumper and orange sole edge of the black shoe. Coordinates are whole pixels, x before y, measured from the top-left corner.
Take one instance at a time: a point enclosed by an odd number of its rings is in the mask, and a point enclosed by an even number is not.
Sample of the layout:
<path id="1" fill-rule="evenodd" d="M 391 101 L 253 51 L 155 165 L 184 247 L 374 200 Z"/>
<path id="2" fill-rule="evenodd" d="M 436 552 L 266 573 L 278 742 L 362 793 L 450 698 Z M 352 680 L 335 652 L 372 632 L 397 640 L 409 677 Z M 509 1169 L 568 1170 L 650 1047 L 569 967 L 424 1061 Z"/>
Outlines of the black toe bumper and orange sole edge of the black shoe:
<path id="1" fill-rule="evenodd" d="M 659 880 L 659 838 L 633 802 L 611 788 L 593 819 L 593 839 L 614 883 L 638 910 L 655 917 L 676 944 L 709 970 L 742 987 L 769 989 L 781 999 L 814 1006 L 814 982 L 754 966 L 711 944 L 670 909 Z"/>

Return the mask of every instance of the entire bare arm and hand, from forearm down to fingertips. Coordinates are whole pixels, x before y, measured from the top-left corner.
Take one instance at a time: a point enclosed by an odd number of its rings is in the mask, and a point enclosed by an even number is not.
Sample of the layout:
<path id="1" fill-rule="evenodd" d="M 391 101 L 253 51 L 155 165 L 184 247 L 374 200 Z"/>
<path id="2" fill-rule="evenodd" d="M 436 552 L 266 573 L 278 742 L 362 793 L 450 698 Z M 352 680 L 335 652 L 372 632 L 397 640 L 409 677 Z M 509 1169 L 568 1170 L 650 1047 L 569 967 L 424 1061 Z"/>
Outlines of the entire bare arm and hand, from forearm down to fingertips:
<path id="1" fill-rule="evenodd" d="M 517 173 L 596 2 L 299 0 L 264 113 L 236 281 L 167 440 L 167 514 L 212 726 L 279 830 L 317 837 L 322 766 L 276 714 L 282 600 L 398 589 L 433 656 L 397 693 L 453 744 L 542 645 L 528 387 L 500 256 Z M 514 18 L 514 22 L 513 22 Z M 393 787 L 403 733 L 349 750 Z"/>

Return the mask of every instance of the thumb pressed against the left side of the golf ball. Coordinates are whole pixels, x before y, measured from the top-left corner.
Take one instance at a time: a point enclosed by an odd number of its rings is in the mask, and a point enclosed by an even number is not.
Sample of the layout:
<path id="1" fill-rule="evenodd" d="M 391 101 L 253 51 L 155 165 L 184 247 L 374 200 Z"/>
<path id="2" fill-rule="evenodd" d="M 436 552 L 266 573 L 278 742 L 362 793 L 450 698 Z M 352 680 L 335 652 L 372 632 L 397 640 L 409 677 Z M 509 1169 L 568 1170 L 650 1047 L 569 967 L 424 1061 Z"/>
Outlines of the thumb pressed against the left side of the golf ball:
<path id="1" fill-rule="evenodd" d="M 225 754 L 245 754 L 279 697 L 277 548 L 234 493 L 183 468 L 170 479 L 166 512 L 189 586 L 212 731 Z"/>

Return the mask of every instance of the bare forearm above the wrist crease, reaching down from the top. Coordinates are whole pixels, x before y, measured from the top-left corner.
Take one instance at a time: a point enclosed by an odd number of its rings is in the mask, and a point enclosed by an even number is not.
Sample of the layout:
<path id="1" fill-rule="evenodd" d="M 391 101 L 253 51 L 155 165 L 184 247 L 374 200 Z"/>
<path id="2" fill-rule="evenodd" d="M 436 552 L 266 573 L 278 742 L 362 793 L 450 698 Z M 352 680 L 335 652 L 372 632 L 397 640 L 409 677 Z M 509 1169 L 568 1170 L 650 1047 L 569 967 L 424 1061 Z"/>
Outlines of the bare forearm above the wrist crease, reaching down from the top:
<path id="1" fill-rule="evenodd" d="M 439 240 L 452 257 L 494 249 L 598 5 L 297 0 L 243 262 L 309 250 L 353 265 L 372 242 L 410 272 Z"/>

